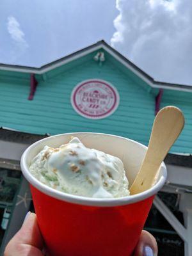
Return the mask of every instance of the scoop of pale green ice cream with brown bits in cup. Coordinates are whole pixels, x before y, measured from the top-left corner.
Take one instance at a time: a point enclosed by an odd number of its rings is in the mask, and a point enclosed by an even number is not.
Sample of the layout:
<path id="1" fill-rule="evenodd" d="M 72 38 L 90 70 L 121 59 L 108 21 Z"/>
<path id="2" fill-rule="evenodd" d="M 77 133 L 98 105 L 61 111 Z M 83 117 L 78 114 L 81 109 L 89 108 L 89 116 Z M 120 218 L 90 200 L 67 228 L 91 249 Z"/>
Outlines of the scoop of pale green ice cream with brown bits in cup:
<path id="1" fill-rule="evenodd" d="M 31 161 L 29 170 L 45 185 L 72 195 L 93 198 L 129 195 L 122 161 L 85 147 L 78 138 L 59 148 L 45 146 Z"/>

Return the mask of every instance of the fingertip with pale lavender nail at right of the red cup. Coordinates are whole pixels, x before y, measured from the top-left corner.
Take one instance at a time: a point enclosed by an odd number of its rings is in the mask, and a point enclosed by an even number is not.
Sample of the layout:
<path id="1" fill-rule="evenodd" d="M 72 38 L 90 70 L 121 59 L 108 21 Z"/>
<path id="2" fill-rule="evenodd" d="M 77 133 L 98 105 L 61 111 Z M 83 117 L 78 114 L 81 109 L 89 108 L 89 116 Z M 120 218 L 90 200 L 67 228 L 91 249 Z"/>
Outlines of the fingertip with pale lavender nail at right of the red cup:
<path id="1" fill-rule="evenodd" d="M 157 256 L 156 239 L 149 232 L 142 230 L 134 256 Z"/>

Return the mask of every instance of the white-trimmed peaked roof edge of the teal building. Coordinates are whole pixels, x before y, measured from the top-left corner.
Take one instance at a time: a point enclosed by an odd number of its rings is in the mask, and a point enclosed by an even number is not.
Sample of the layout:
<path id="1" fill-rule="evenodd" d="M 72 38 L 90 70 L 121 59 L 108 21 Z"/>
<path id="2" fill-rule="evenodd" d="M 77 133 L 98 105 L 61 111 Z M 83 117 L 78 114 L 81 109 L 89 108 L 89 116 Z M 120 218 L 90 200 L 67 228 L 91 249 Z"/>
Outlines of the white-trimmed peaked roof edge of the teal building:
<path id="1" fill-rule="evenodd" d="M 187 84 L 175 84 L 175 83 L 164 83 L 161 81 L 155 81 L 151 76 L 145 73 L 141 68 L 138 68 L 134 63 L 130 60 L 125 58 L 120 52 L 116 51 L 108 45 L 104 40 L 100 40 L 96 44 L 92 44 L 84 49 L 79 51 L 73 52 L 63 58 L 60 58 L 56 61 L 52 61 L 42 67 L 26 67 L 26 66 L 19 66 L 19 65 L 6 65 L 0 63 L 0 70 L 8 70 L 8 71 L 15 71 L 15 72 L 25 72 L 25 73 L 33 73 L 33 74 L 44 74 L 49 70 L 54 68 L 60 67 L 61 65 L 65 65 L 70 61 L 74 61 L 77 58 L 81 58 L 93 51 L 97 51 L 100 48 L 103 48 L 109 54 L 111 54 L 116 60 L 118 60 L 122 65 L 129 68 L 134 74 L 139 76 L 143 81 L 149 84 L 152 88 L 163 88 L 163 89 L 170 89 L 170 90 L 179 90 L 184 92 L 192 92 L 192 86 Z"/>

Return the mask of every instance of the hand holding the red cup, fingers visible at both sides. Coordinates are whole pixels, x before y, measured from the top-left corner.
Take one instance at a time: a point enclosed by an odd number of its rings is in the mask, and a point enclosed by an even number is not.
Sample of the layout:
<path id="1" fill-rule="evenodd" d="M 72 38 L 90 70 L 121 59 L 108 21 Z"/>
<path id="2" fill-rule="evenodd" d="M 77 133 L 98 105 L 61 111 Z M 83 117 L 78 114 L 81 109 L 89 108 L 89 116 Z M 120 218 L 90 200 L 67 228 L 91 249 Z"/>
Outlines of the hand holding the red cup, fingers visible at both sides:
<path id="1" fill-rule="evenodd" d="M 44 241 L 38 228 L 36 214 L 29 212 L 20 230 L 7 244 L 4 256 L 44 256 Z M 147 231 L 141 232 L 134 256 L 156 256 L 156 239 Z"/>

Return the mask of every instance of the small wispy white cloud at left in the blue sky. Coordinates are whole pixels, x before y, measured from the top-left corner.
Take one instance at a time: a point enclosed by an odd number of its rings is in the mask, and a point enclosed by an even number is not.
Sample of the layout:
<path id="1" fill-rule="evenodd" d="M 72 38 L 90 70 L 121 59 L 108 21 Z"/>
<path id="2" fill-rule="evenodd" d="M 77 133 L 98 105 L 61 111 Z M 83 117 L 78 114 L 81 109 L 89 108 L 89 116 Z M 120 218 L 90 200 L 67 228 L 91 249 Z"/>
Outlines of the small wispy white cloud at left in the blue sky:
<path id="1" fill-rule="evenodd" d="M 7 22 L 8 33 L 10 34 L 14 45 L 12 49 L 12 61 L 17 60 L 20 55 L 26 52 L 26 49 L 29 47 L 28 42 L 25 40 L 25 34 L 20 28 L 20 24 L 13 16 L 8 17 Z"/>

